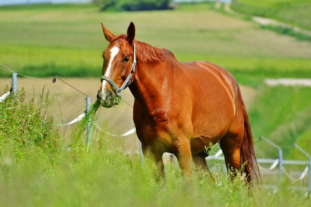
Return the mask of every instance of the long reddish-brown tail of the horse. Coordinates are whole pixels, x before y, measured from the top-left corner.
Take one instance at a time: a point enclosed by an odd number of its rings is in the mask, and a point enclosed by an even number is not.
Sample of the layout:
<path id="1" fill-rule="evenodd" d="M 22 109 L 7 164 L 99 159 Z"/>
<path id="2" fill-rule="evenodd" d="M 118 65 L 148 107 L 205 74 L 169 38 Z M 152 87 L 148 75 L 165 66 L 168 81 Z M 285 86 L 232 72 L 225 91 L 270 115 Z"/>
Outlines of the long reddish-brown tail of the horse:
<path id="1" fill-rule="evenodd" d="M 243 165 L 243 172 L 245 173 L 248 182 L 254 181 L 257 184 L 260 184 L 261 176 L 254 152 L 254 141 L 252 138 L 252 131 L 250 129 L 250 122 L 248 121 L 248 112 L 246 111 L 243 101 L 242 105 L 244 117 L 244 136 L 240 148 L 241 164 Z"/>

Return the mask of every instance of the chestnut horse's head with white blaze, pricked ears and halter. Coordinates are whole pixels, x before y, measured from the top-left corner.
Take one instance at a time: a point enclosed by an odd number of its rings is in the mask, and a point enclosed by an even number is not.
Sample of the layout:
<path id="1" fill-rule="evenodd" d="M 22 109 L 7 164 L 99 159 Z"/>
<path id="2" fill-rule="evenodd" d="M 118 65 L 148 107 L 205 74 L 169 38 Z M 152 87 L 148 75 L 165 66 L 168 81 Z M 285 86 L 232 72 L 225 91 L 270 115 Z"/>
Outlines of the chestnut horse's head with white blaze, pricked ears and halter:
<path id="1" fill-rule="evenodd" d="M 112 34 L 103 23 L 101 26 L 109 46 L 103 50 L 103 77 L 97 99 L 101 101 L 102 106 L 110 108 L 119 104 L 121 90 L 128 87 L 132 81 L 136 66 L 135 26 L 131 22 L 127 34 L 119 35 Z"/>

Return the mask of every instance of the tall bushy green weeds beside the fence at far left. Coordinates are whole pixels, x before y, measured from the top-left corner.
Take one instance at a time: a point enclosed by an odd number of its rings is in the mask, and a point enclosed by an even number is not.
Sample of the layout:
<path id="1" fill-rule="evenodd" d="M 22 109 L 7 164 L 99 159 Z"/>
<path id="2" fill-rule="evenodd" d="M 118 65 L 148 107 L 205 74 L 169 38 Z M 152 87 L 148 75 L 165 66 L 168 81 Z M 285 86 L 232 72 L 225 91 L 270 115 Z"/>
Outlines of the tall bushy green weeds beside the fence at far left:
<path id="1" fill-rule="evenodd" d="M 25 92 L 10 95 L 0 103 L 0 154 L 14 157 L 14 161 L 26 159 L 28 150 L 39 150 L 40 154 L 54 159 L 61 141 L 53 126 L 49 110 L 50 99 L 44 89 L 36 101 L 25 101 Z M 38 152 L 39 152 L 38 151 Z"/>

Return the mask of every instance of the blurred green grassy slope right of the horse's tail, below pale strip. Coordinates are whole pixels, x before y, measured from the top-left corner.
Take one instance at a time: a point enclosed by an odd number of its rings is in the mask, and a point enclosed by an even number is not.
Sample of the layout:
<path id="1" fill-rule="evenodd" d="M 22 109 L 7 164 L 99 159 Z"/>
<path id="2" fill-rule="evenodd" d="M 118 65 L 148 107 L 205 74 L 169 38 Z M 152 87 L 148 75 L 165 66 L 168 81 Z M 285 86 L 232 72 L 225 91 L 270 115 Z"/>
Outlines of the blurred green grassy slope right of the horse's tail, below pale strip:
<path id="1" fill-rule="evenodd" d="M 254 105 L 249 110 L 252 132 L 255 139 L 263 135 L 290 156 L 292 146 L 298 143 L 310 152 L 306 136 L 311 128 L 311 89 L 308 87 L 261 86 Z M 277 157 L 274 148 L 257 141 L 259 157 Z M 297 154 L 296 154 L 297 155 Z"/>

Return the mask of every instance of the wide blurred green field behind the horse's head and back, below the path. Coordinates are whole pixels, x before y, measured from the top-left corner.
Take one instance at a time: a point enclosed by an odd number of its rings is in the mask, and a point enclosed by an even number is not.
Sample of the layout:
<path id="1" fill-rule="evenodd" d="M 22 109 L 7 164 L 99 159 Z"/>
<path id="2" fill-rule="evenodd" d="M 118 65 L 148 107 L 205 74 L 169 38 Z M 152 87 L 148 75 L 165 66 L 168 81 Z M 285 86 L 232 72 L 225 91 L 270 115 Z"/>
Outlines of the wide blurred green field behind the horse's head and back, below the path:
<path id="1" fill-rule="evenodd" d="M 107 47 L 100 22 L 115 34 L 136 23 L 136 39 L 168 48 L 180 61 L 207 60 L 228 68 L 241 83 L 263 77 L 310 77 L 311 43 L 263 30 L 208 3 L 176 10 L 99 12 L 92 6 L 0 8 L 0 62 L 38 77 L 99 77 Z M 1 76 L 10 76 L 0 71 Z"/>

